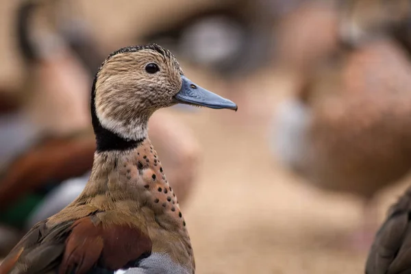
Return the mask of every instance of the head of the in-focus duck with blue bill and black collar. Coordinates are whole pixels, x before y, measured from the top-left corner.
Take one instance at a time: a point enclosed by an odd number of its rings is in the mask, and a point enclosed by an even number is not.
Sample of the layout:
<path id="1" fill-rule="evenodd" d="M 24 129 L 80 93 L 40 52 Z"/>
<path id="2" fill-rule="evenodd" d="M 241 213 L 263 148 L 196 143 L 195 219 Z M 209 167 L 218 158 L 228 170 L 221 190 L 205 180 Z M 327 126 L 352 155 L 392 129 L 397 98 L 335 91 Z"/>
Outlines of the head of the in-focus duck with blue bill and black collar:
<path id="1" fill-rule="evenodd" d="M 237 105 L 188 79 L 159 45 L 125 47 L 101 64 L 92 87 L 97 150 L 127 149 L 147 137 L 155 110 L 177 103 L 237 110 Z"/>

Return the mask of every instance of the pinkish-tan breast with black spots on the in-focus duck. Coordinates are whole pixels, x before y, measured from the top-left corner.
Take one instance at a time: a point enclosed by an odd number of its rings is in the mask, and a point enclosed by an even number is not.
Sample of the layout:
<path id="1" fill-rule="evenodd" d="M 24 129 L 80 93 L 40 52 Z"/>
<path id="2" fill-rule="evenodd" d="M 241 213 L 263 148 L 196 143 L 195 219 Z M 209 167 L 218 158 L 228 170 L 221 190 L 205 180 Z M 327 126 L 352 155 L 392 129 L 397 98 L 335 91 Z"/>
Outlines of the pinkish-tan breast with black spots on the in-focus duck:
<path id="1" fill-rule="evenodd" d="M 132 212 L 136 210 L 145 219 L 149 237 L 153 240 L 152 251 L 165 251 L 178 264 L 194 270 L 186 221 L 148 138 L 136 149 L 118 156 L 115 174 L 112 188 L 120 188 L 121 191 L 116 192 L 124 200 L 117 199 L 117 206 L 126 206 L 124 210 L 127 211 L 129 208 Z M 127 201 L 129 199 L 132 203 Z"/>

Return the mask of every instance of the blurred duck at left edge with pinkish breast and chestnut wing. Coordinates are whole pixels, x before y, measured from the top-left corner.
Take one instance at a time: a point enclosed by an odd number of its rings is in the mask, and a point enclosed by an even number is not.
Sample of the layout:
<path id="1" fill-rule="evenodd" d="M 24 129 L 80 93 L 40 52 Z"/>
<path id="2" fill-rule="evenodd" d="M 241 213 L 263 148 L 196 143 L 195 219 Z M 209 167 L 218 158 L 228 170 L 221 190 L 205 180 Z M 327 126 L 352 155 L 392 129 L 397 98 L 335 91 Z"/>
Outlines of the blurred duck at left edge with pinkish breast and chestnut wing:
<path id="1" fill-rule="evenodd" d="M 25 82 L 14 92 L 18 108 L 0 124 L 0 221 L 16 227 L 51 186 L 90 169 L 95 146 L 88 129 L 90 75 L 53 32 L 51 8 L 51 1 L 22 1 L 16 16 Z"/>

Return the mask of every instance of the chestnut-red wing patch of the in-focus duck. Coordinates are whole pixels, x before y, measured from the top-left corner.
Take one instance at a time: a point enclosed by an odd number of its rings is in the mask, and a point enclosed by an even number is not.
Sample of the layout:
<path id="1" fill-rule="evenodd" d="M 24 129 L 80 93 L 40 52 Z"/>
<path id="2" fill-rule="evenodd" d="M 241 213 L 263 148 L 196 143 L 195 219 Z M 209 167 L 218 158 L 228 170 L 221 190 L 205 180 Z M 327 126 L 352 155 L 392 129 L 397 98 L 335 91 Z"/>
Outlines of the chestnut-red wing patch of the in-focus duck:
<path id="1" fill-rule="evenodd" d="M 151 239 L 128 224 L 103 223 L 97 216 L 77 220 L 66 240 L 66 250 L 59 273 L 87 273 L 99 264 L 116 270 L 151 253 Z"/>

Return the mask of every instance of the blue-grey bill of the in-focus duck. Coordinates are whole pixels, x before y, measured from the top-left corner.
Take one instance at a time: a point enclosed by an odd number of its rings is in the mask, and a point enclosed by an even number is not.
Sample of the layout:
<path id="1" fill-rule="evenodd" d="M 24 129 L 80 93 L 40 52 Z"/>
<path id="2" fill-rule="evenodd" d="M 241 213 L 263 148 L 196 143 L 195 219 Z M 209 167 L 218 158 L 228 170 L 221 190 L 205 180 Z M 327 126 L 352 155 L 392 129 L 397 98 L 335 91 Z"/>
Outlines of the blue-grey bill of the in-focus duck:
<path id="1" fill-rule="evenodd" d="M 197 86 L 184 75 L 182 76 L 182 88 L 173 97 L 175 103 L 187 105 L 198 105 L 206 108 L 223 109 L 237 111 L 237 105 L 215 93 Z"/>

